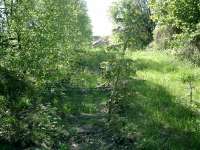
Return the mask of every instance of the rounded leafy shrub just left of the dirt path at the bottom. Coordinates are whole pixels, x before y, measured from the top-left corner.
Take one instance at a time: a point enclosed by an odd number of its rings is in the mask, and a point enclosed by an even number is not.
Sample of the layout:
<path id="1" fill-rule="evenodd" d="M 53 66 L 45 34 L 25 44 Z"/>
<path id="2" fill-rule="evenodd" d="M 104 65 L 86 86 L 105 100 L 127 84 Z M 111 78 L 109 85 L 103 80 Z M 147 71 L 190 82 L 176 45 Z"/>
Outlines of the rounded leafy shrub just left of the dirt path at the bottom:
<path id="1" fill-rule="evenodd" d="M 38 147 L 52 149 L 65 142 L 68 132 L 64 130 L 57 109 L 49 104 L 39 105 L 27 114 L 20 124 L 24 131 L 21 141 L 34 143 Z"/>

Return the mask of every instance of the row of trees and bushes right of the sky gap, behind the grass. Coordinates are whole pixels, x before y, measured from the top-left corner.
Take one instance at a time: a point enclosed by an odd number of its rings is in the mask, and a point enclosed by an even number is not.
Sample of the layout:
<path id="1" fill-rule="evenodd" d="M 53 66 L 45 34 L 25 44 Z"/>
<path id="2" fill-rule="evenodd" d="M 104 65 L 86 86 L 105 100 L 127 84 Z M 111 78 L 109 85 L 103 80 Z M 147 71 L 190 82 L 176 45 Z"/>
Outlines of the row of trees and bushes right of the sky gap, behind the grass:
<path id="1" fill-rule="evenodd" d="M 119 0 L 111 7 L 114 40 L 133 49 L 168 49 L 199 64 L 199 0 Z"/>

